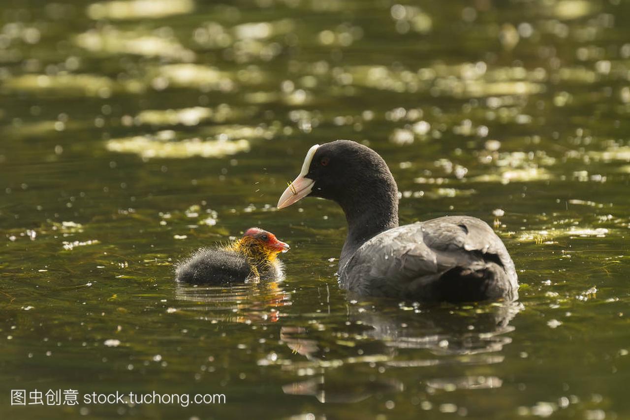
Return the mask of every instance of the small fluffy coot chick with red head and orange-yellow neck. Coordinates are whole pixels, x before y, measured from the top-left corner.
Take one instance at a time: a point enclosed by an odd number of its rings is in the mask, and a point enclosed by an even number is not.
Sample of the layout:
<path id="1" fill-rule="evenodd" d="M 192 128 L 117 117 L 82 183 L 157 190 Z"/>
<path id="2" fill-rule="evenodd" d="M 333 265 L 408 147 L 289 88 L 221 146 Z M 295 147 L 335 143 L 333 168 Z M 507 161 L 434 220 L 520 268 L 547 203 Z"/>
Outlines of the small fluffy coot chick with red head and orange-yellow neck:
<path id="1" fill-rule="evenodd" d="M 280 252 L 289 245 L 273 233 L 248 229 L 242 238 L 221 248 L 200 248 L 177 264 L 175 278 L 195 284 L 243 283 L 248 280 L 275 280 L 282 277 Z"/>

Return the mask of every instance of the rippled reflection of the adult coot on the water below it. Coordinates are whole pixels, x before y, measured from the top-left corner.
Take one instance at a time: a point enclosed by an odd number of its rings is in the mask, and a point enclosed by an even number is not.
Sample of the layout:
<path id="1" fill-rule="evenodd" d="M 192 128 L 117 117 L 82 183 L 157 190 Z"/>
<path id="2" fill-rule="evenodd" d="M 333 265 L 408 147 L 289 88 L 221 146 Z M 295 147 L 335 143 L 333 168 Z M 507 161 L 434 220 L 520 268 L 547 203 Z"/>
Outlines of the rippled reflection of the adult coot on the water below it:
<path id="1" fill-rule="evenodd" d="M 501 386 L 502 380 L 497 376 L 462 376 L 467 370 L 461 366 L 501 363 L 505 358 L 503 346 L 512 341 L 509 333 L 514 328 L 510 321 L 522 305 L 508 302 L 472 308 L 399 308 L 390 304 L 387 300 L 355 302 L 348 307 L 346 323 L 331 320 L 327 325 L 320 320 L 323 325 L 317 328 L 284 325 L 280 340 L 292 354 L 306 359 L 296 365 L 302 369 L 319 368 L 319 375 L 314 378 L 284 385 L 284 393 L 313 395 L 320 402 L 353 402 L 372 394 L 398 392 L 401 388 L 396 385 L 402 386 L 398 380 L 410 375 L 433 389 Z M 337 344 L 339 337 L 343 337 L 345 346 Z M 286 359 L 275 363 L 295 363 L 289 356 Z M 372 370 L 362 376 L 362 368 L 347 368 L 367 362 L 391 370 L 374 380 Z M 338 371 L 342 366 L 346 366 L 345 370 Z M 348 370 L 357 374 L 347 375 Z"/>

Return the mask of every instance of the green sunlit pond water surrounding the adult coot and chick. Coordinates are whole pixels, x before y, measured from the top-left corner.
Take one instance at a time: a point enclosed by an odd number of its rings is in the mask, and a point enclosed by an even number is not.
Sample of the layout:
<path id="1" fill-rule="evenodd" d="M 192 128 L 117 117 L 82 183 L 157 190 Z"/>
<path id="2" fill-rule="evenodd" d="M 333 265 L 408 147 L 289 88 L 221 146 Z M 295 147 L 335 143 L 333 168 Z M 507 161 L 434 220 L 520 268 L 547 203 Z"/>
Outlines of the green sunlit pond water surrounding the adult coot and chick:
<path id="1" fill-rule="evenodd" d="M 3 0 L 1 416 L 630 418 L 628 18 L 626 0 Z M 385 158 L 401 223 L 495 226 L 520 300 L 348 298 L 340 208 L 275 209 L 341 138 Z M 175 262 L 251 226 L 290 243 L 284 281 L 176 284 Z M 84 400 L 116 391 L 226 402 Z"/>

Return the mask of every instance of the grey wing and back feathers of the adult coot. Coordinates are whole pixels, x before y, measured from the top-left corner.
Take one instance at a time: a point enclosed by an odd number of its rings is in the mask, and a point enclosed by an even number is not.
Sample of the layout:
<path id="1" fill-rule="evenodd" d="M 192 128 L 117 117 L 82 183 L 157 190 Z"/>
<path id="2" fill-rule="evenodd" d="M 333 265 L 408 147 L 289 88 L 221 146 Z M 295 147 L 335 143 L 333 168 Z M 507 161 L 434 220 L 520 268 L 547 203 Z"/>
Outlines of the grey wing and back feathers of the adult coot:
<path id="1" fill-rule="evenodd" d="M 469 216 L 446 216 L 375 236 L 341 267 L 340 277 L 350 291 L 404 296 L 455 267 L 481 270 L 486 259 L 505 269 L 509 289 L 518 287 L 512 259 L 487 223 Z"/>

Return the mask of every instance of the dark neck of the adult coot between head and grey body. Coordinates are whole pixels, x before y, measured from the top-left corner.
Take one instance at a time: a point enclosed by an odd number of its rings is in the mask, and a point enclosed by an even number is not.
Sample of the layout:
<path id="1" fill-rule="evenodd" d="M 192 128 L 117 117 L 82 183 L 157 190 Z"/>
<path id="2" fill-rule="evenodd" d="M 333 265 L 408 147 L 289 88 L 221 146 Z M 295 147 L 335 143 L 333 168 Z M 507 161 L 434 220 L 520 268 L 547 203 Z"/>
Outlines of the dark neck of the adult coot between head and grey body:
<path id="1" fill-rule="evenodd" d="M 339 200 L 348 222 L 348 236 L 339 258 L 339 269 L 367 240 L 398 226 L 398 187 L 389 170 L 364 179 L 357 190 Z"/>

